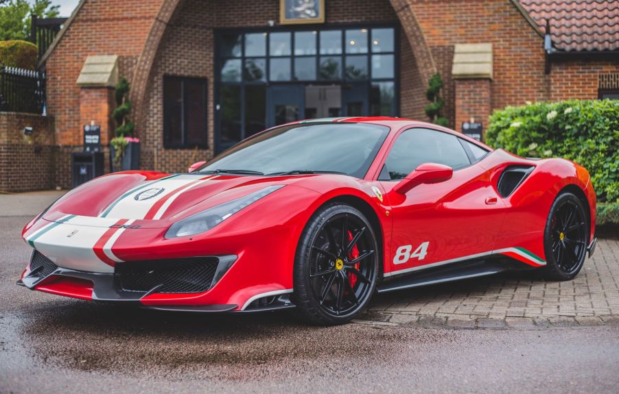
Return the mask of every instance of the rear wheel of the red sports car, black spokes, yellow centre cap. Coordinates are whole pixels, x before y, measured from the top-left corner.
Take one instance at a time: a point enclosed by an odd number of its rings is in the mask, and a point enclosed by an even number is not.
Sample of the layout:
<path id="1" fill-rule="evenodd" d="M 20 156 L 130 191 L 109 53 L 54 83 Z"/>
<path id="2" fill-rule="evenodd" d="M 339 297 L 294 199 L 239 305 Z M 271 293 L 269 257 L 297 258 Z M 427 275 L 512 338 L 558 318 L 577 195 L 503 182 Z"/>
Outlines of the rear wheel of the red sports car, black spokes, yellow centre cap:
<path id="1" fill-rule="evenodd" d="M 572 193 L 554 200 L 544 229 L 548 280 L 572 280 L 583 268 L 587 256 L 589 223 L 582 201 Z"/>

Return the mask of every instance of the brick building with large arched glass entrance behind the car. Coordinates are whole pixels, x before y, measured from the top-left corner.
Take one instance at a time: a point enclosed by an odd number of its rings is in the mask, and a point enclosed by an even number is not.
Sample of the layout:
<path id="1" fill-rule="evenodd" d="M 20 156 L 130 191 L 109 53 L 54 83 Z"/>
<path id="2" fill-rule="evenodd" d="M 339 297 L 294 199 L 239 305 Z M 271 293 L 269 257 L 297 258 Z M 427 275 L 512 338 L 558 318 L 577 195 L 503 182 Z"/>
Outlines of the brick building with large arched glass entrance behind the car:
<path id="1" fill-rule="evenodd" d="M 317 13 L 282 19 L 293 8 Z M 619 2 L 82 0 L 40 66 L 55 182 L 69 187 L 82 126 L 113 136 L 118 77 L 132 86 L 140 167 L 157 171 L 299 118 L 425 120 L 434 73 L 456 130 L 526 101 L 617 97 Z"/>

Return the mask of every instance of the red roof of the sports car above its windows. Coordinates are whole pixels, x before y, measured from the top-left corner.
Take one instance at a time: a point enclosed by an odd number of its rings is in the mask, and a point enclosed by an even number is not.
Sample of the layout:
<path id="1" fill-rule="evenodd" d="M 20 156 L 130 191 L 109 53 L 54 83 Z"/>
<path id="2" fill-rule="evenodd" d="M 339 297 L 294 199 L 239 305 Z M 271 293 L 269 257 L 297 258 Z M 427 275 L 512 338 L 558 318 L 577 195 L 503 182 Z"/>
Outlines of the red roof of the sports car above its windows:
<path id="1" fill-rule="evenodd" d="M 334 118 L 305 119 L 303 121 L 296 121 L 292 123 L 371 123 L 374 125 L 383 125 L 383 126 L 389 127 L 391 134 L 395 134 L 399 132 L 399 130 L 402 130 L 404 127 L 406 128 L 423 127 L 423 128 L 430 128 L 433 130 L 439 130 L 441 132 L 445 132 L 448 134 L 454 134 L 455 136 L 459 138 L 463 138 L 464 140 L 467 140 L 470 143 L 478 145 L 484 149 L 487 149 L 489 151 L 493 150 L 491 147 L 485 145 L 484 143 L 480 143 L 480 141 L 474 138 L 471 138 L 463 133 L 448 129 L 447 127 L 435 125 L 434 123 L 416 121 L 414 119 L 397 118 L 395 116 L 349 116 L 349 117 L 340 116 L 340 117 L 334 117 Z"/>

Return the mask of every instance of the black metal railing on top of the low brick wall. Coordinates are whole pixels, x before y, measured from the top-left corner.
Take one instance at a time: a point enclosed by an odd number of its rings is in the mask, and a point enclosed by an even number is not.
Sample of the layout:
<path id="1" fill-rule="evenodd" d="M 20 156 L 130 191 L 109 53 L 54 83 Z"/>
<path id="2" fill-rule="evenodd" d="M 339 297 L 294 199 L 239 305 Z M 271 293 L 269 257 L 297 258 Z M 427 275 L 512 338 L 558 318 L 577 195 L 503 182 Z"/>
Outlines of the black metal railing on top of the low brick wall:
<path id="1" fill-rule="evenodd" d="M 0 68 L 0 111 L 43 114 L 45 72 Z"/>

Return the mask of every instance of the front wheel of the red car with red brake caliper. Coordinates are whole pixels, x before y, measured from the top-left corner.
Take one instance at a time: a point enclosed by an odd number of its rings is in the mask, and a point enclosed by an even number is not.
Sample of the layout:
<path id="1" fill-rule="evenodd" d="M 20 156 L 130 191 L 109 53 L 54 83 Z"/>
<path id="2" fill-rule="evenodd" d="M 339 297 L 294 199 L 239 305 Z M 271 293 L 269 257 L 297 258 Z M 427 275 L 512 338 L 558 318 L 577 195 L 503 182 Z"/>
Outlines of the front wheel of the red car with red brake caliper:
<path id="1" fill-rule="evenodd" d="M 347 251 L 342 251 L 342 245 Z M 296 249 L 297 315 L 318 325 L 347 323 L 358 315 L 376 288 L 378 245 L 371 224 L 359 210 L 338 203 L 319 208 L 305 225 Z"/>

